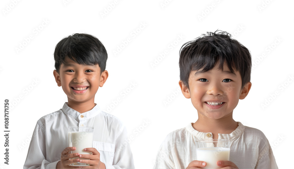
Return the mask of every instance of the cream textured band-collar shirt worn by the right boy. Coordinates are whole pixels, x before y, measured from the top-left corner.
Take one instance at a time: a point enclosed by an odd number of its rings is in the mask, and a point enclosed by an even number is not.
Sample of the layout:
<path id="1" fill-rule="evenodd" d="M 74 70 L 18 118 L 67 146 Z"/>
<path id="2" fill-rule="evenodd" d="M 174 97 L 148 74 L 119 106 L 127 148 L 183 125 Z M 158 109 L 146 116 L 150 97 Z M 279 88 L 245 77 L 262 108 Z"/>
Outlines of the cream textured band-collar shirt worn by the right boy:
<path id="1" fill-rule="evenodd" d="M 168 134 L 158 151 L 154 168 L 187 168 L 196 160 L 196 141 L 212 139 L 212 133 L 195 130 L 192 123 Z M 218 139 L 231 140 L 230 161 L 238 168 L 278 168 L 265 135 L 258 129 L 243 126 L 230 134 L 218 134 Z"/>

